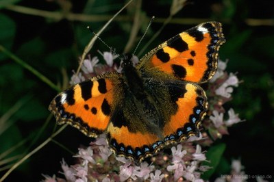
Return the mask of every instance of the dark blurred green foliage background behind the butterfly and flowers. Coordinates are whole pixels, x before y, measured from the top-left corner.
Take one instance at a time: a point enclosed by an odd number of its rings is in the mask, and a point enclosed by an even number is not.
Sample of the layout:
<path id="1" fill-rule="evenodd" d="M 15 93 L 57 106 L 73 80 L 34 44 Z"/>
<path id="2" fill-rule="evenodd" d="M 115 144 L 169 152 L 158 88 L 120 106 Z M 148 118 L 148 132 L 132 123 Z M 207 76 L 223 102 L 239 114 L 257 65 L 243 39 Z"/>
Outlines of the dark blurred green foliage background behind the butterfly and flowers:
<path id="1" fill-rule="evenodd" d="M 121 12 L 100 35 L 117 53 L 123 52 L 132 32 L 135 3 L 136 1 Z M 66 86 L 72 70 L 77 70 L 84 47 L 92 38 L 92 34 L 86 29 L 87 25 L 95 32 L 99 31 L 124 4 L 125 1 L 121 0 L 115 3 L 110 0 L 52 0 L 39 3 L 27 0 L 0 1 L 0 116 L 4 116 L 19 101 L 24 102 L 25 96 L 30 98 L 5 118 L 4 123 L 8 127 L 0 134 L 0 154 L 21 141 L 23 143 L 8 156 L 26 154 L 46 140 L 56 127 L 53 118 L 49 125 L 42 127 L 49 116 L 47 107 L 57 94 L 56 90 L 18 62 L 14 62 L 12 55 L 38 70 L 56 86 Z M 162 27 L 164 19 L 169 16 L 170 6 L 171 1 L 142 1 L 140 31 L 132 49 L 151 16 L 156 17 L 155 21 L 140 47 L 144 47 Z M 57 15 L 49 16 L 47 12 Z M 69 14 L 71 16 L 64 18 L 63 15 Z M 81 14 L 86 14 L 88 20 L 83 21 Z M 269 147 L 274 145 L 273 18 L 274 1 L 188 1 L 173 17 L 179 19 L 179 23 L 171 19 L 158 38 L 149 44 L 147 51 L 202 21 L 215 20 L 223 23 L 227 42 L 221 47 L 220 56 L 222 60 L 229 60 L 227 70 L 237 73 L 242 80 L 233 94 L 234 99 L 226 106 L 233 107 L 240 113 L 240 118 L 246 121 L 229 129 L 230 134 L 208 150 L 208 157 L 212 159 L 215 168 L 213 176 L 205 174 L 206 178 L 214 179 L 220 174 L 227 174 L 232 159 L 241 159 L 246 174 L 274 174 L 273 149 Z M 3 48 L 12 55 L 4 53 Z M 97 50 L 109 51 L 100 41 L 95 42 L 90 54 L 101 56 Z M 0 127 L 3 127 L 2 124 Z M 32 140 L 38 132 L 42 134 L 34 144 Z M 73 152 L 77 151 L 79 145 L 88 145 L 90 142 L 89 138 L 71 127 L 62 131 L 55 140 Z M 18 178 L 23 181 L 40 181 L 41 174 L 52 175 L 60 170 L 62 158 L 68 163 L 73 161 L 71 153 L 51 142 L 12 172 L 7 181 Z M 0 166 L 0 176 L 5 171 L 4 166 Z"/>

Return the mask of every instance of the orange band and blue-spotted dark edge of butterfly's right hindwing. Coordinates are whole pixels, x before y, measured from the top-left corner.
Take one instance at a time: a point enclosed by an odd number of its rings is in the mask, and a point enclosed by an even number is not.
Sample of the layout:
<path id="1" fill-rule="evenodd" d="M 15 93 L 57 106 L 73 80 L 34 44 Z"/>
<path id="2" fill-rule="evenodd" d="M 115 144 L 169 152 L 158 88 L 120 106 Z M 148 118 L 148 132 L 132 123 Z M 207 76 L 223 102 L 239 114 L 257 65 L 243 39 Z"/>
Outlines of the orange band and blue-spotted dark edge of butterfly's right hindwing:
<path id="1" fill-rule="evenodd" d="M 196 84 L 186 83 L 187 90 L 177 99 L 178 112 L 164 126 L 166 141 L 182 141 L 189 135 L 199 135 L 199 123 L 206 113 L 206 93 Z"/>

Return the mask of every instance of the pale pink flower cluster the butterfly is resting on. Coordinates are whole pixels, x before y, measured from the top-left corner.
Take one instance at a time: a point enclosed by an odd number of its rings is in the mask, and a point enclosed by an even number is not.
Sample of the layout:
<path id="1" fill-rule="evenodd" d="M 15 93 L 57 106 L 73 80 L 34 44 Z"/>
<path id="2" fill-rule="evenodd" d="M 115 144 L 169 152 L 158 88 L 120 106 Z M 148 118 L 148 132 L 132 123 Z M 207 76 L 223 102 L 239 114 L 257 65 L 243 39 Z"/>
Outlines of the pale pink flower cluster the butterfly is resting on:
<path id="1" fill-rule="evenodd" d="M 99 64 L 98 57 L 89 56 L 83 62 L 82 71 L 71 78 L 71 84 L 103 72 L 114 70 L 121 72 L 121 64 L 114 63 L 117 55 L 109 52 L 101 55 L 105 64 Z M 57 178 L 55 175 L 53 177 L 43 175 L 44 181 L 203 181 L 201 174 L 210 168 L 203 166 L 202 163 L 206 161 L 206 152 L 202 151 L 203 146 L 209 146 L 214 140 L 228 133 L 227 127 L 242 121 L 238 114 L 235 114 L 234 109 L 229 109 L 228 117 L 224 119 L 223 104 L 232 99 L 233 88 L 239 83 L 236 75 L 225 72 L 226 65 L 227 62 L 219 60 L 218 70 L 208 83 L 210 117 L 203 120 L 205 130 L 200 133 L 199 138 L 193 136 L 177 146 L 160 151 L 151 157 L 150 164 L 144 161 L 136 165 L 131 159 L 116 157 L 110 151 L 105 135 L 100 135 L 87 148 L 79 148 L 79 152 L 75 155 L 79 159 L 77 164 L 68 166 L 62 161 L 62 174 L 65 179 Z M 239 172 L 236 167 L 234 170 Z"/>

